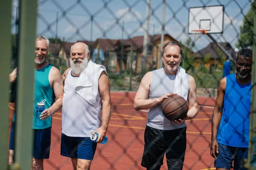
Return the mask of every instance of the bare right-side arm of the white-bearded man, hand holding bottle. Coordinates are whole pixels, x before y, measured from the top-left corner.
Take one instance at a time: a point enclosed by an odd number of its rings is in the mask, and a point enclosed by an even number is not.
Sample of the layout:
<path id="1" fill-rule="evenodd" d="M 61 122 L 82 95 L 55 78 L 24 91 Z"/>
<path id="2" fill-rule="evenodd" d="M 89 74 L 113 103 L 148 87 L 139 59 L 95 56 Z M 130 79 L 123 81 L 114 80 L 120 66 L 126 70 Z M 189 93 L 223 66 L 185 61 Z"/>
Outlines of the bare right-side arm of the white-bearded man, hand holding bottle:
<path id="1" fill-rule="evenodd" d="M 99 94 L 102 101 L 102 122 L 101 126 L 94 131 L 94 133 L 97 132 L 99 134 L 97 143 L 101 143 L 105 138 L 111 114 L 109 80 L 105 71 L 102 71 L 99 76 Z"/>

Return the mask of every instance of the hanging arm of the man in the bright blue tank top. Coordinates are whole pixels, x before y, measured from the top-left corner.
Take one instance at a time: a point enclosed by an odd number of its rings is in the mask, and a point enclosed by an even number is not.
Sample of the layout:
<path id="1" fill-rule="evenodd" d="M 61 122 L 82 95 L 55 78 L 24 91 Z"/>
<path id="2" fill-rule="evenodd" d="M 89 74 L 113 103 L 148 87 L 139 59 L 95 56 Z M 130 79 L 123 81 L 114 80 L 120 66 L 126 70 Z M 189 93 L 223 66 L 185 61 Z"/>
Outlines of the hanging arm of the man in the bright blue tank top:
<path id="1" fill-rule="evenodd" d="M 217 142 L 217 134 L 218 127 L 221 122 L 223 102 L 224 102 L 224 93 L 226 88 L 227 79 L 226 77 L 222 78 L 218 85 L 218 94 L 216 97 L 215 107 L 212 113 L 212 144 L 210 148 L 211 156 L 216 158 L 216 154 L 218 154 L 218 142 Z"/>

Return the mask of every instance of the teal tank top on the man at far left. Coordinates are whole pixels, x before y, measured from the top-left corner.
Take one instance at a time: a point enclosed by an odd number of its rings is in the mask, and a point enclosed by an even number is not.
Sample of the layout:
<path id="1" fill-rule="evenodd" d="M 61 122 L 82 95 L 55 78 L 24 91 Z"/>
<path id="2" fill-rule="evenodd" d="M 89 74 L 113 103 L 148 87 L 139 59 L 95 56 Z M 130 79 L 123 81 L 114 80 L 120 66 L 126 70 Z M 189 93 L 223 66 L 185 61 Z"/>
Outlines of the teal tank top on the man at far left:
<path id="1" fill-rule="evenodd" d="M 44 68 L 35 70 L 35 81 L 34 81 L 35 92 L 34 92 L 34 108 L 33 108 L 34 116 L 32 119 L 33 129 L 45 129 L 47 127 L 52 126 L 52 116 L 44 120 L 43 127 L 37 127 L 35 125 L 35 119 L 39 119 L 39 117 L 36 117 L 36 111 L 35 111 L 37 103 L 46 99 L 46 102 L 44 103 L 45 108 L 49 108 L 55 102 L 55 95 L 49 83 L 49 72 L 51 68 L 52 68 L 52 65 L 48 64 Z M 15 122 L 15 115 L 13 118 L 13 122 Z"/>

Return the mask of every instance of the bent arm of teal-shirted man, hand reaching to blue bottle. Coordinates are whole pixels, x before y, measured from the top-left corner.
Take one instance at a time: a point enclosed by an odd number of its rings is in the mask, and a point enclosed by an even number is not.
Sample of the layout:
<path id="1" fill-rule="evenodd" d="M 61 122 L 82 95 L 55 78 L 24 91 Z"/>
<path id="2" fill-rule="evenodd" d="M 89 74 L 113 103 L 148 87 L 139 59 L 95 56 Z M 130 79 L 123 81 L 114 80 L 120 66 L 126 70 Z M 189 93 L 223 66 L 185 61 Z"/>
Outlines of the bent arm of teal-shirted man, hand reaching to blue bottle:
<path id="1" fill-rule="evenodd" d="M 45 109 L 39 117 L 40 119 L 45 120 L 49 118 L 53 113 L 60 110 L 62 107 L 62 99 L 63 99 L 63 82 L 61 78 L 61 72 L 55 68 L 52 67 L 52 69 L 49 72 L 49 78 L 52 78 L 52 89 L 54 91 L 55 95 L 55 102 L 53 105 L 47 109 Z"/>

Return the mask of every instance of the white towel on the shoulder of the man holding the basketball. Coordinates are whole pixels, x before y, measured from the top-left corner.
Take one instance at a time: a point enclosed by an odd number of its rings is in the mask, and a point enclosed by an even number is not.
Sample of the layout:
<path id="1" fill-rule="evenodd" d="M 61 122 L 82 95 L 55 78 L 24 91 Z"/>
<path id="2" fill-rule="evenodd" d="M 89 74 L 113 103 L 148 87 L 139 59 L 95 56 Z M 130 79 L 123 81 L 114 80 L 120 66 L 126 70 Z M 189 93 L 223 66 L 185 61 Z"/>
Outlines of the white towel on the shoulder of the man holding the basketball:
<path id="1" fill-rule="evenodd" d="M 174 93 L 182 96 L 187 100 L 189 94 L 189 75 L 186 74 L 186 70 L 182 67 L 177 68 L 177 73 L 175 77 Z"/>

